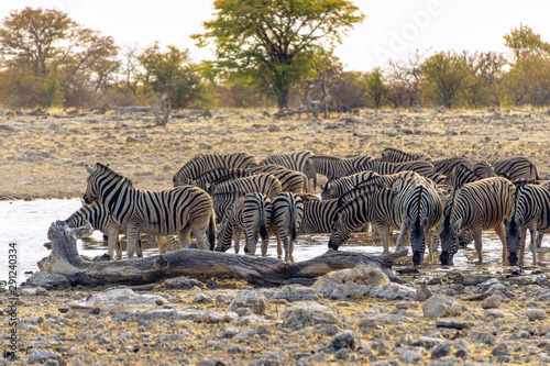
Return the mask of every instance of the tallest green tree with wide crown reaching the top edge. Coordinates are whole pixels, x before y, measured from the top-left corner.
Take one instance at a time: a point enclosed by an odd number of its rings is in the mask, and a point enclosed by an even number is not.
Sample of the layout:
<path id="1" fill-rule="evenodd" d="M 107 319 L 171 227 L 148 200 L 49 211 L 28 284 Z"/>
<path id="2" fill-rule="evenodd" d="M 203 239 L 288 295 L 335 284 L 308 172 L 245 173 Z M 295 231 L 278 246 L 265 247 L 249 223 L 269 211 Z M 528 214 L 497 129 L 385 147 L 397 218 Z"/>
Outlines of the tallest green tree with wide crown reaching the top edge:
<path id="1" fill-rule="evenodd" d="M 217 0 L 216 19 L 193 38 L 216 45 L 217 66 L 253 82 L 279 108 L 293 86 L 315 76 L 342 35 L 365 15 L 345 0 Z"/>

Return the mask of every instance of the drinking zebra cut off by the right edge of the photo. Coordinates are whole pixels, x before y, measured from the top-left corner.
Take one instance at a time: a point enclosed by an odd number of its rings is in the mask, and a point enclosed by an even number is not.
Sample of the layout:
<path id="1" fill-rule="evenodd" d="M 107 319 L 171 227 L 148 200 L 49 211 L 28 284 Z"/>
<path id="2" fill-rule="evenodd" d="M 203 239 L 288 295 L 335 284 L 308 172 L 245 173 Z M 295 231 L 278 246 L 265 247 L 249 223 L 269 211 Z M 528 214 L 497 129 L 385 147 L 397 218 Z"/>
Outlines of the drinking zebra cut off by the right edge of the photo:
<path id="1" fill-rule="evenodd" d="M 527 230 L 531 234 L 532 265 L 537 265 L 537 232 L 550 233 L 550 186 L 530 180 L 516 182 L 516 199 L 509 218 L 504 218 L 510 266 L 524 260 Z M 519 258 L 518 258 L 519 252 Z"/>

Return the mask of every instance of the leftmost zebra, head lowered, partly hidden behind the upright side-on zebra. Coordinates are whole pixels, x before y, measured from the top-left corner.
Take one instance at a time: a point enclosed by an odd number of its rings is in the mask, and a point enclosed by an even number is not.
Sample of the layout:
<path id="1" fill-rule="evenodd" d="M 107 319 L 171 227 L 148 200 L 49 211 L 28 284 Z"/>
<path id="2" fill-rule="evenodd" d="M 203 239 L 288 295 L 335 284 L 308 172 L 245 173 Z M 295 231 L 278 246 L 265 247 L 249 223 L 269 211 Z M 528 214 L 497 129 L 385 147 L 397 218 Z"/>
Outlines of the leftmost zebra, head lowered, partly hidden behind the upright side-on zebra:
<path id="1" fill-rule="evenodd" d="M 112 215 L 107 211 L 107 208 L 100 202 L 92 202 L 91 204 L 84 204 L 81 208 L 73 212 L 70 217 L 65 220 L 69 228 L 80 228 L 87 223 L 91 224 L 94 230 L 99 230 L 107 237 L 108 249 L 107 254 L 113 258 L 117 252 L 117 259 L 122 259 L 122 248 L 119 242 L 119 233 L 123 229 L 114 221 Z"/>

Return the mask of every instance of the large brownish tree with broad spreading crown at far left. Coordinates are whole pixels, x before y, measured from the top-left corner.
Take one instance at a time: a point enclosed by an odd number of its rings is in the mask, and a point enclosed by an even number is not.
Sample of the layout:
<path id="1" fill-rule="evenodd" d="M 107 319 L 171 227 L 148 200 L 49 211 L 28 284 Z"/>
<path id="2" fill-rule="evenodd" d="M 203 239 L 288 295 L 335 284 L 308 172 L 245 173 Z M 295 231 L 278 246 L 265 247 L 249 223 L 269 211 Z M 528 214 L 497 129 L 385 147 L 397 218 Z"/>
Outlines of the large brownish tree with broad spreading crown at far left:
<path id="1" fill-rule="evenodd" d="M 14 10 L 0 26 L 0 67 L 25 76 L 24 84 L 21 78 L 6 78 L 6 87 L 20 93 L 16 103 L 26 107 L 38 102 L 44 106 L 56 82 L 69 104 L 78 103 L 90 90 L 105 88 L 118 69 L 117 54 L 112 37 L 53 9 Z M 51 73 L 56 74 L 55 82 Z"/>

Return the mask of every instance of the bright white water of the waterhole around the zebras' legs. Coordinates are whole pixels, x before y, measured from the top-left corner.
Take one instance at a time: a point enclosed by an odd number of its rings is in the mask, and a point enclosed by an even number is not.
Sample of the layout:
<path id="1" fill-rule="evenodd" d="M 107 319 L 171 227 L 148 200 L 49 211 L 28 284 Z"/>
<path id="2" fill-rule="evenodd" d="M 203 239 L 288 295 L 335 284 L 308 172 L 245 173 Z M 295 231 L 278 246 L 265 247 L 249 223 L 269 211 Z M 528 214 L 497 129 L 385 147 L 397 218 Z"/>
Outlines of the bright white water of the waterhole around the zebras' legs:
<path id="1" fill-rule="evenodd" d="M 8 257 L 8 244 L 18 244 L 18 284 L 22 282 L 26 276 L 24 271 L 37 270 L 36 262 L 50 255 L 43 244 L 48 242 L 47 229 L 56 220 L 67 219 L 74 211 L 80 207 L 80 200 L 34 200 L 34 201 L 0 201 L 0 222 L 2 223 L 2 240 L 0 245 L 0 257 Z M 547 237 L 550 235 L 547 235 Z M 321 255 L 327 251 L 328 235 L 300 235 L 295 245 L 294 257 L 297 262 L 309 259 Z M 393 244 L 395 245 L 394 233 Z M 175 237 L 173 239 L 175 242 Z M 548 240 L 544 240 L 542 247 L 538 252 L 538 260 L 541 267 L 550 262 L 550 248 Z M 124 244 L 123 237 L 122 243 Z M 483 234 L 483 258 L 484 264 L 477 265 L 477 253 L 474 249 L 473 243 L 469 247 L 459 249 L 454 255 L 454 266 L 442 268 L 438 265 L 439 254 L 435 256 L 436 263 L 427 262 L 428 253 L 425 255 L 425 263 L 419 267 L 422 275 L 430 276 L 458 269 L 460 271 L 476 271 L 476 273 L 494 273 L 508 271 L 509 267 L 503 267 L 502 263 L 502 244 L 494 231 L 486 231 Z M 407 244 L 407 242 L 405 242 Z M 152 236 L 144 239 L 144 256 L 158 254 L 158 248 Z M 528 245 L 528 244 L 527 244 Z M 241 243 L 241 253 L 243 244 Z M 382 254 L 382 244 L 378 237 L 372 233 L 355 233 L 350 241 L 340 247 L 341 251 L 361 252 L 369 255 Z M 393 249 L 393 248 L 391 248 Z M 107 246 L 103 244 L 102 234 L 95 232 L 92 236 L 86 240 L 78 241 L 78 251 L 81 255 L 88 257 L 100 256 L 107 253 Z M 234 253 L 231 247 L 228 253 Z M 270 240 L 267 254 L 276 255 L 275 237 Z M 409 249 L 410 253 L 410 249 Z M 532 265 L 532 256 L 527 248 L 525 260 L 526 266 Z M 410 266 L 410 257 L 403 264 Z M 8 279 L 8 260 L 0 262 L 0 280 Z"/>

